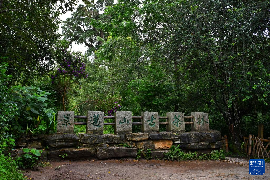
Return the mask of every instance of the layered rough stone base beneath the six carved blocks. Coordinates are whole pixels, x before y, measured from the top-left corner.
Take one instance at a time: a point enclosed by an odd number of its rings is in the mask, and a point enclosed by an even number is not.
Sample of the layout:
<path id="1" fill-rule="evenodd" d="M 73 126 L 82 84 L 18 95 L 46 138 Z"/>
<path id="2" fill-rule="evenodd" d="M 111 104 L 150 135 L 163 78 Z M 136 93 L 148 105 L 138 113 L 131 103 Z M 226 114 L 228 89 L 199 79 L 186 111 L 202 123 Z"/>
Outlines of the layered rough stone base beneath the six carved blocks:
<path id="1" fill-rule="evenodd" d="M 123 147 L 123 144 L 130 145 Z M 215 130 L 184 133 L 155 132 L 127 134 L 51 134 L 19 139 L 19 147 L 44 149 L 43 159 L 136 157 L 138 149 L 151 149 L 153 158 L 162 158 L 172 145 L 185 151 L 213 150 L 222 147 L 221 133 Z"/>

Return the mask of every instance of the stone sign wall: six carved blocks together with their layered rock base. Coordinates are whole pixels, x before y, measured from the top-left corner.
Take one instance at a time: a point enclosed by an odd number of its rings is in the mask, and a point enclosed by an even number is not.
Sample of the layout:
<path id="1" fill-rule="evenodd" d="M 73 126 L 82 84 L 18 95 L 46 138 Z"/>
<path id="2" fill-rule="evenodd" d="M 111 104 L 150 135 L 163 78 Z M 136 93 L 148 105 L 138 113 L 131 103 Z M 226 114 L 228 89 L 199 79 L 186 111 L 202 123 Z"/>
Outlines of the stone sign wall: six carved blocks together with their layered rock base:
<path id="1" fill-rule="evenodd" d="M 207 113 L 192 112 L 186 117 L 191 122 L 185 122 L 184 113 L 171 112 L 159 117 L 158 112 L 141 112 L 141 133 L 131 133 L 131 114 L 117 111 L 113 123 L 116 134 L 103 134 L 104 113 L 88 111 L 86 133 L 76 135 L 73 134 L 74 112 L 58 111 L 57 134 L 21 138 L 17 146 L 44 149 L 42 158 L 45 159 L 61 159 L 64 154 L 68 155 L 65 159 L 136 157 L 139 149 L 143 152 L 151 149 L 153 158 L 162 158 L 172 145 L 179 145 L 184 151 L 222 147 L 221 133 L 209 130 Z M 158 132 L 159 119 L 166 119 L 166 132 Z M 191 124 L 193 131 L 185 132 L 185 123 Z"/>

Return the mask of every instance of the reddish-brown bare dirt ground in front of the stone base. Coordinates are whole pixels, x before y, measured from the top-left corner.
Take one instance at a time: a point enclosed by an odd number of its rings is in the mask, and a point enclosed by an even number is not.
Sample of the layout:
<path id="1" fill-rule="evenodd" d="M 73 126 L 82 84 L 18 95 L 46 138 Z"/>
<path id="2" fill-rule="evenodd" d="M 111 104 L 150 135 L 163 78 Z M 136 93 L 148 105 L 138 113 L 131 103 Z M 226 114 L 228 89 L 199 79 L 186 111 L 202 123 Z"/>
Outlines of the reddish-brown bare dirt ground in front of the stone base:
<path id="1" fill-rule="evenodd" d="M 225 161 L 134 161 L 110 159 L 50 162 L 39 171 L 26 171 L 32 180 L 85 179 L 270 179 L 270 164 L 264 175 L 249 175 L 248 160 L 227 158 Z M 61 167 L 59 167 L 61 166 Z"/>

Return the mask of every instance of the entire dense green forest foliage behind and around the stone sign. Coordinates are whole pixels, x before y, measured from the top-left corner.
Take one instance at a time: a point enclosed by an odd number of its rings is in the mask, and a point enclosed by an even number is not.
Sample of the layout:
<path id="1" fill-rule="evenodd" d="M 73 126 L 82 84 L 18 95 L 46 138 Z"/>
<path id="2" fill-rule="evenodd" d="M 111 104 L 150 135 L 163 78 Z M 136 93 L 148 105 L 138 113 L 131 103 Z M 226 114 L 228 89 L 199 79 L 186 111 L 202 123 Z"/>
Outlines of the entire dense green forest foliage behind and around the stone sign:
<path id="1" fill-rule="evenodd" d="M 83 2 L 0 0 L 1 152 L 55 133 L 59 110 L 207 112 L 235 152 L 260 123 L 270 136 L 269 0 Z"/>

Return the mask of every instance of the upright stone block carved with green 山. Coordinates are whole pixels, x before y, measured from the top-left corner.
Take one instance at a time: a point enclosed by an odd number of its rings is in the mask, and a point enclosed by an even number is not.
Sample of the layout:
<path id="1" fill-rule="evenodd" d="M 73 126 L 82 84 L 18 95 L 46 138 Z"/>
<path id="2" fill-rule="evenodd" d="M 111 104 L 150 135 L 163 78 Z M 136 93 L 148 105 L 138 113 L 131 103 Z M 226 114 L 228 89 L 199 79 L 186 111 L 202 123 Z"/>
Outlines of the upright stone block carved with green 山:
<path id="1" fill-rule="evenodd" d="M 116 111 L 114 119 L 114 133 L 126 134 L 131 133 L 131 111 Z"/>

